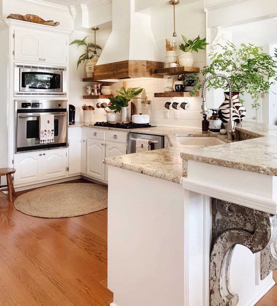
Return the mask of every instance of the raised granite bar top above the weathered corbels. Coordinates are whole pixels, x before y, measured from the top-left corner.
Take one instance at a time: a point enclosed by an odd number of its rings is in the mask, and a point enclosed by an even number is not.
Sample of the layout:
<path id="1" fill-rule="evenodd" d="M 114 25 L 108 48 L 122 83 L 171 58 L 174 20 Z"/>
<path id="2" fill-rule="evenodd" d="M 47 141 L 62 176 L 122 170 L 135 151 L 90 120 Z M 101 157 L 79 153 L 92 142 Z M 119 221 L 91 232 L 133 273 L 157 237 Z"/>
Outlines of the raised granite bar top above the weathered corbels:
<path id="1" fill-rule="evenodd" d="M 184 148 L 181 157 L 185 161 L 277 176 L 277 126 L 242 122 L 236 130 L 255 138 L 197 148 L 193 152 Z"/>

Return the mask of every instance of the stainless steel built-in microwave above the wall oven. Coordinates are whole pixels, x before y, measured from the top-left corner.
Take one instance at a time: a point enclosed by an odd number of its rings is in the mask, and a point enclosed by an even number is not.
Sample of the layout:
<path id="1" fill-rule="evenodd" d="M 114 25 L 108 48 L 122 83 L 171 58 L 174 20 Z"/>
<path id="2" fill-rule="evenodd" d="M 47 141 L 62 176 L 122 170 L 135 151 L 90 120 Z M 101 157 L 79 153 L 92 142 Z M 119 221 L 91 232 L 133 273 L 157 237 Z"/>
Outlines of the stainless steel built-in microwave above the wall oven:
<path id="1" fill-rule="evenodd" d="M 66 96 L 66 67 L 14 64 L 14 96 Z"/>

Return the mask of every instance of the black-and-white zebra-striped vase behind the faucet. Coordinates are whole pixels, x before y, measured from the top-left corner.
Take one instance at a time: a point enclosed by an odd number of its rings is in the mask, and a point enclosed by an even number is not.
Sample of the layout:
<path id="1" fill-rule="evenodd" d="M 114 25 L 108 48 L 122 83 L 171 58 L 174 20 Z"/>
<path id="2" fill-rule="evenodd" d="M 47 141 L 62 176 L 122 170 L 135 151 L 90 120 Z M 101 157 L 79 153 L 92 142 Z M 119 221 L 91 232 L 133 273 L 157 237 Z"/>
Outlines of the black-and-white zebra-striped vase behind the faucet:
<path id="1" fill-rule="evenodd" d="M 219 106 L 219 118 L 223 123 L 227 123 L 230 120 L 230 111 L 229 111 L 229 91 L 224 92 L 225 100 Z M 243 118 L 246 115 L 245 107 L 239 102 L 239 92 L 232 91 L 232 100 L 233 100 L 233 121 L 240 123 L 243 121 Z"/>

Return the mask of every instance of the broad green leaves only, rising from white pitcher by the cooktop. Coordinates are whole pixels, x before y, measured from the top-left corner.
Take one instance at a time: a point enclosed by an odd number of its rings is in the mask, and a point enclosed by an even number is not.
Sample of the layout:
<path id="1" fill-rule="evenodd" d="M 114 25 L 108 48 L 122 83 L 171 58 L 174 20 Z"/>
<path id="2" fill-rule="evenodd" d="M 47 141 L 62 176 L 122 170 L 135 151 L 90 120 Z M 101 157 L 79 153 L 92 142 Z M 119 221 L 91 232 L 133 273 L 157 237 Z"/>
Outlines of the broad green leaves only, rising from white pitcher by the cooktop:
<path id="1" fill-rule="evenodd" d="M 120 91 L 116 91 L 118 95 L 115 98 L 109 98 L 112 103 L 109 108 L 115 110 L 115 112 L 120 112 L 122 107 L 127 107 L 128 102 L 137 97 L 142 91 L 143 88 L 139 87 L 130 87 L 127 90 L 125 87 L 121 87 Z"/>

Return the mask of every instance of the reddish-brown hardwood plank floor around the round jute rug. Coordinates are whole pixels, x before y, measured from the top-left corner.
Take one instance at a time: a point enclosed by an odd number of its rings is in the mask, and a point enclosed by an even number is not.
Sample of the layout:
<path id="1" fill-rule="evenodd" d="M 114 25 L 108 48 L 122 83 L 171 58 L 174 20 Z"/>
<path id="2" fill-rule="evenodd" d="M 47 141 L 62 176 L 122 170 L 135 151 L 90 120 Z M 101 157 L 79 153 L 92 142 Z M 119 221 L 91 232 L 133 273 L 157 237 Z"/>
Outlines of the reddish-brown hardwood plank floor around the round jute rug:
<path id="1" fill-rule="evenodd" d="M 106 306 L 112 301 L 107 209 L 73 218 L 37 218 L 18 212 L 0 192 L 0 306 Z M 256 304 L 276 305 L 277 285 Z"/>

